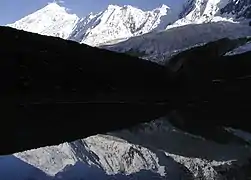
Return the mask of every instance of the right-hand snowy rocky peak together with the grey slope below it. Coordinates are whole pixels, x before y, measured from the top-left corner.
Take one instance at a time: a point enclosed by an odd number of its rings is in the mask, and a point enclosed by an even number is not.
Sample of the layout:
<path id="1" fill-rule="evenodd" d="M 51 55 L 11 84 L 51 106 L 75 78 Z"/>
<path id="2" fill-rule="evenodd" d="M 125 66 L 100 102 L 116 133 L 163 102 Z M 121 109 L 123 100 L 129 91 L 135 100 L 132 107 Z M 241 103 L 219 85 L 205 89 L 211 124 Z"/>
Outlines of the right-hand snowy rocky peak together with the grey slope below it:
<path id="1" fill-rule="evenodd" d="M 163 64 L 172 55 L 193 46 L 225 37 L 250 36 L 250 6 L 250 0 L 187 0 L 179 19 L 166 30 L 102 47 Z"/>

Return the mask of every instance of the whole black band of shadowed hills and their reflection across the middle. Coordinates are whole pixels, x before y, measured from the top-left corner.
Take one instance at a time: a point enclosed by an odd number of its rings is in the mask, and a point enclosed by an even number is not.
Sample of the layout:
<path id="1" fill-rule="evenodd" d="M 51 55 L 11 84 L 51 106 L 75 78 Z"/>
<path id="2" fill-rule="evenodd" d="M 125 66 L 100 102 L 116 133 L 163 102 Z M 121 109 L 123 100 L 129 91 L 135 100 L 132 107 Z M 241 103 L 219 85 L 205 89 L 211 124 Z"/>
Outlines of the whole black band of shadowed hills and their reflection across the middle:
<path id="1" fill-rule="evenodd" d="M 188 130 L 251 130 L 251 80 L 243 78 L 251 53 L 212 61 L 196 53 L 171 72 L 125 54 L 0 27 L 0 154 L 127 128 L 174 111 L 183 122 L 173 123 Z"/>

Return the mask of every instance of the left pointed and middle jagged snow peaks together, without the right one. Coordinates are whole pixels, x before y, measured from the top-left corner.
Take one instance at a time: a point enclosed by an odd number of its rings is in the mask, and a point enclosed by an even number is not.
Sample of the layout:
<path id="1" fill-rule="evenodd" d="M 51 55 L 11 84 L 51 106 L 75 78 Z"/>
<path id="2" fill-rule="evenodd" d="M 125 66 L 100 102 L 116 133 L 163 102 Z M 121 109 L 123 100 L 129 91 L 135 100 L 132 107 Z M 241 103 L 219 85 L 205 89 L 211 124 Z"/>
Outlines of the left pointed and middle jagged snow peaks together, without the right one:
<path id="1" fill-rule="evenodd" d="M 164 30 L 177 18 L 178 14 L 166 5 L 152 11 L 130 5 L 109 5 L 102 12 L 79 18 L 54 2 L 7 26 L 98 46 L 111 40 Z"/>

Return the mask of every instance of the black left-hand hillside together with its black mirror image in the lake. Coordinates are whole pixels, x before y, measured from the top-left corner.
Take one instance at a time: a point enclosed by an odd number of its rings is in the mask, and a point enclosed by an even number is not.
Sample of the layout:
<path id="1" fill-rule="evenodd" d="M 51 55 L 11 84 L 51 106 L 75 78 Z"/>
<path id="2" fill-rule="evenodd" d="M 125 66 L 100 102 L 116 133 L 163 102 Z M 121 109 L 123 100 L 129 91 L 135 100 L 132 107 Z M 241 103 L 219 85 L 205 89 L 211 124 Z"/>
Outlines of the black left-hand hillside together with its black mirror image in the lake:
<path id="1" fill-rule="evenodd" d="M 172 87 L 158 64 L 7 27 L 0 57 L 1 154 L 152 120 Z"/>

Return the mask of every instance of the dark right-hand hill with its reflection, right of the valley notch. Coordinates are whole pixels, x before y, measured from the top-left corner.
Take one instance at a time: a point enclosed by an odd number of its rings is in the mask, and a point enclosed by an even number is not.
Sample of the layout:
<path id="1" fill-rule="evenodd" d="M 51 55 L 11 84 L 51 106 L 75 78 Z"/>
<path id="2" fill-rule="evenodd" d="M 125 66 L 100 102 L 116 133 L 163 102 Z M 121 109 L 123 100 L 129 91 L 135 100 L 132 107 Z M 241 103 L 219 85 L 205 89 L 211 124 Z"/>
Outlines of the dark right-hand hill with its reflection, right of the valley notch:
<path id="1" fill-rule="evenodd" d="M 181 52 L 166 64 L 183 82 L 189 104 L 170 114 L 173 124 L 215 140 L 224 127 L 251 132 L 251 52 L 225 55 L 249 41 L 220 39 Z"/>

